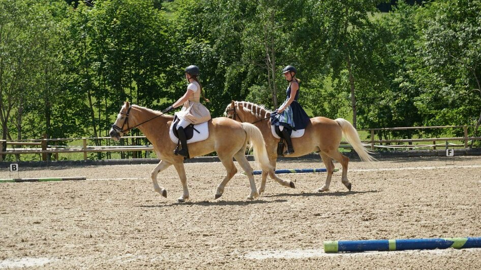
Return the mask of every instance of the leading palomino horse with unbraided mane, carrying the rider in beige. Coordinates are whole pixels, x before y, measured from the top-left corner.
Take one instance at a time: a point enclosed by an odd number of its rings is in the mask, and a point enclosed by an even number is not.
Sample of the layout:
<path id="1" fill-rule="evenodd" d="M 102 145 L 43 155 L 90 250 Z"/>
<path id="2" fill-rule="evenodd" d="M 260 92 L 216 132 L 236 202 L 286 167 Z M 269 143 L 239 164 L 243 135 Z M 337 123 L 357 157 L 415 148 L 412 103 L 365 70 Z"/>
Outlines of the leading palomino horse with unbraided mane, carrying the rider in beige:
<path id="1" fill-rule="evenodd" d="M 157 183 L 157 175 L 170 165 L 174 165 L 184 189 L 184 194 L 177 200 L 179 203 L 183 203 L 189 199 L 189 189 L 187 188 L 184 157 L 173 153 L 176 144 L 169 137 L 169 128 L 172 120 L 173 116 L 171 115 L 164 115 L 161 112 L 136 105 L 131 106 L 126 102 L 112 125 L 109 134 L 111 138 L 118 141 L 130 129 L 134 127 L 139 128 L 147 140 L 152 143 L 157 156 L 161 159 L 151 174 L 154 190 L 167 197 L 165 188 Z M 227 176 L 217 186 L 215 198 L 222 196 L 225 185 L 237 173 L 232 157 L 237 160 L 249 178 L 251 193 L 247 198 L 254 199 L 259 196 L 254 176 L 252 175 L 253 170 L 247 161 L 245 153 L 247 142 L 250 141 L 250 145 L 254 149 L 254 158 L 260 164 L 262 171 L 273 171 L 272 166 L 269 164 L 264 139 L 260 130 L 252 124 L 238 123 L 226 117 L 209 120 L 208 129 L 208 139 L 189 144 L 189 154 L 191 157 L 194 157 L 206 155 L 214 151 L 217 152 L 219 159 L 227 170 Z M 281 184 L 285 186 L 292 185 L 291 187 L 293 187 L 293 184 L 288 181 Z"/>

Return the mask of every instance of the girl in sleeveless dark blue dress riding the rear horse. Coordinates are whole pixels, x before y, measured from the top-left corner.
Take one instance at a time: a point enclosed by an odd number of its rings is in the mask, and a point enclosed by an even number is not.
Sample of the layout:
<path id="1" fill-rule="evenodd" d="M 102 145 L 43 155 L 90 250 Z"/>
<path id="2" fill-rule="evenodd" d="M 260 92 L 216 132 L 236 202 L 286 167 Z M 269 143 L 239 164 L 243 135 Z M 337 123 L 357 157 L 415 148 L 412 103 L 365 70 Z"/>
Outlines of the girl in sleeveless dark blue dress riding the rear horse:
<path id="1" fill-rule="evenodd" d="M 278 114 L 274 119 L 273 124 L 279 126 L 279 129 L 286 140 L 287 151 L 283 154 L 288 155 L 294 153 L 294 148 L 292 147 L 291 137 L 288 129 L 304 129 L 311 122 L 311 120 L 297 102 L 300 82 L 299 79 L 295 78 L 297 70 L 292 65 L 287 65 L 282 70 L 282 73 L 289 82 L 289 86 L 286 90 L 287 98 L 279 107 L 279 109 L 277 109 Z"/>

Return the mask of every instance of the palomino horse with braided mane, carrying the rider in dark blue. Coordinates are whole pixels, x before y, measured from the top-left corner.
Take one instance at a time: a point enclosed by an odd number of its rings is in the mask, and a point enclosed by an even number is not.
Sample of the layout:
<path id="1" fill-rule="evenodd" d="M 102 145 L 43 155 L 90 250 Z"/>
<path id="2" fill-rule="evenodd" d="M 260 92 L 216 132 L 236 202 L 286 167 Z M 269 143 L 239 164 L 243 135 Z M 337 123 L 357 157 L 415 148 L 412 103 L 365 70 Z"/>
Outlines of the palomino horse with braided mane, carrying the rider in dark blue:
<path id="1" fill-rule="evenodd" d="M 271 112 L 263 106 L 259 106 L 250 102 L 234 102 L 229 104 L 225 110 L 225 115 L 239 122 L 254 123 L 262 132 L 264 137 L 267 154 L 269 156 L 270 165 L 276 168 L 277 146 L 279 139 L 272 134 L 270 127 Z M 319 192 L 329 190 L 330 179 L 334 172 L 333 159 L 342 165 L 342 183 L 351 190 L 351 183 L 347 180 L 347 164 L 349 158 L 338 151 L 341 143 L 342 135 L 347 142 L 352 145 L 359 157 L 363 161 L 375 160 L 370 156 L 370 152 L 363 147 L 359 134 L 356 129 L 347 120 L 338 118 L 332 120 L 325 117 L 311 118 L 311 124 L 308 124 L 304 132 L 304 136 L 293 138 L 292 145 L 295 152 L 286 157 L 304 156 L 312 152 L 319 152 L 327 170 L 327 178 L 324 186 L 318 189 Z M 276 177 L 269 173 L 271 178 Z M 262 172 L 262 182 L 259 188 L 259 194 L 265 190 L 265 181 L 267 172 Z M 276 181 L 280 181 L 275 179 Z M 284 180 L 281 180 L 284 181 Z"/>

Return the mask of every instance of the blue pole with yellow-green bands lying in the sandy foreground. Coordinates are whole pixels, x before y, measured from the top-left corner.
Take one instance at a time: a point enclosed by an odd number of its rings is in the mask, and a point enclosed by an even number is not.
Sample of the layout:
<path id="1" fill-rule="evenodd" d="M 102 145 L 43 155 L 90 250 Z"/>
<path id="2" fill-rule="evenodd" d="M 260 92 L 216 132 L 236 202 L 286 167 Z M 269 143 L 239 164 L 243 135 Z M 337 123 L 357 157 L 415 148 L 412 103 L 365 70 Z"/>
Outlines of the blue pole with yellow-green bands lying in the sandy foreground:
<path id="1" fill-rule="evenodd" d="M 324 252 L 481 248 L 481 237 L 324 241 Z"/>

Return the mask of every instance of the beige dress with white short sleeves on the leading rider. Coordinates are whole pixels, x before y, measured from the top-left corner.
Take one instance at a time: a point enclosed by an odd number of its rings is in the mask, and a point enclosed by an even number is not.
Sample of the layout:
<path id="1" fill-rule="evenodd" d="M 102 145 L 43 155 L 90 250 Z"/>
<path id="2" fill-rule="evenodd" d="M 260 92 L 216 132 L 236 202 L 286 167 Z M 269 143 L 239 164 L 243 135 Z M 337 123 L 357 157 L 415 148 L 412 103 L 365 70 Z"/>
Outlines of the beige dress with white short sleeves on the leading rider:
<path id="1" fill-rule="evenodd" d="M 196 87 L 192 87 L 192 84 L 194 84 Z M 207 110 L 205 106 L 200 104 L 199 83 L 193 82 L 187 87 L 187 89 L 194 90 L 192 88 L 197 88 L 197 90 L 194 91 L 189 100 L 184 103 L 182 110 L 175 113 L 175 115 L 177 115 L 178 118 L 185 119 L 186 121 L 194 125 L 211 120 L 211 113 L 209 112 L 209 110 Z"/>

